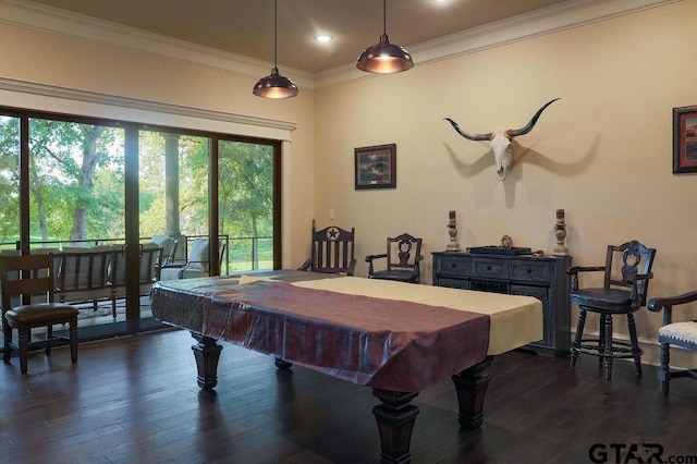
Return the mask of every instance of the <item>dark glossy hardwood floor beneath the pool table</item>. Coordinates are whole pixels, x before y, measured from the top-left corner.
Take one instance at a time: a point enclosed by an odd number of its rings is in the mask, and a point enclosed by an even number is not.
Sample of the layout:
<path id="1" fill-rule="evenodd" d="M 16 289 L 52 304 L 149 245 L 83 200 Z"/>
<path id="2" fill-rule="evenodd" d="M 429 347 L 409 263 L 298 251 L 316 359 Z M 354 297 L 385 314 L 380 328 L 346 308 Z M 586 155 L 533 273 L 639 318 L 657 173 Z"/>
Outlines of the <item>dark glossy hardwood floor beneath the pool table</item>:
<path id="1" fill-rule="evenodd" d="M 193 342 L 164 331 L 82 343 L 76 365 L 66 349 L 32 354 L 27 376 L 16 358 L 0 364 L 0 462 L 379 462 L 370 389 L 223 344 L 218 387 L 201 391 Z M 571 370 L 523 352 L 489 373 L 479 430 L 458 428 L 450 379 L 414 400 L 414 463 L 590 463 L 596 443 L 595 462 L 648 462 L 645 443 L 663 462 L 697 462 L 697 382 L 661 398 L 651 366 L 637 380 L 619 362 L 608 382 L 595 358 Z"/>

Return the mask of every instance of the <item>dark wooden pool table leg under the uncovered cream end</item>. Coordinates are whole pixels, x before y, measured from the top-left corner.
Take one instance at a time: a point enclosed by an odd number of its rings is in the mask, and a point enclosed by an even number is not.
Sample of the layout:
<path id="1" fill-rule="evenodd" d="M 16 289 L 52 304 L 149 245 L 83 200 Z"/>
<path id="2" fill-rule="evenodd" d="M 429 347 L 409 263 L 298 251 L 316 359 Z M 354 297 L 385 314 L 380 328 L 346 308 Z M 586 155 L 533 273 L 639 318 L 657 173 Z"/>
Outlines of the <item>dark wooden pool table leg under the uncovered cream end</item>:
<path id="1" fill-rule="evenodd" d="M 491 381 L 491 377 L 485 373 L 485 369 L 491 365 L 492 361 L 493 356 L 487 356 L 481 363 L 453 376 L 460 403 L 457 422 L 461 427 L 468 430 L 474 430 L 484 422 L 484 398 Z"/>

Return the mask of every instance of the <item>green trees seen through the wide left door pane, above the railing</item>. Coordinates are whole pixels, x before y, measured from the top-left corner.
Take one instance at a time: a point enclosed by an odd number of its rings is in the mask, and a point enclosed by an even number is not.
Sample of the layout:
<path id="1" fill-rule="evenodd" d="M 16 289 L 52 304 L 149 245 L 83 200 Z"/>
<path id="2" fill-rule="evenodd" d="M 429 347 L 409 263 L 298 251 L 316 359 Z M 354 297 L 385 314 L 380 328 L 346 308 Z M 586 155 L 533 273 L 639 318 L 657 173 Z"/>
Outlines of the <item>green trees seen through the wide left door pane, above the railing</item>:
<path id="1" fill-rule="evenodd" d="M 119 129 L 30 120 L 33 233 L 42 241 L 123 235 L 122 139 Z"/>

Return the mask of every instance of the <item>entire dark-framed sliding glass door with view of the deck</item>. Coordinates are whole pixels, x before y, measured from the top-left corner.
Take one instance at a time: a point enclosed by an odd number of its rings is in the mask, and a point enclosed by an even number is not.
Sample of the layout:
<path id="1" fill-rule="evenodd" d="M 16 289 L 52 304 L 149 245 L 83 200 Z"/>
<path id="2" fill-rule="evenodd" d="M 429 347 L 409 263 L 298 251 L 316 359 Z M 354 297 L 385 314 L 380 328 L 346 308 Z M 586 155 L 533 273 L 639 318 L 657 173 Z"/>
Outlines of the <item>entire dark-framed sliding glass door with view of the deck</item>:
<path id="1" fill-rule="evenodd" d="M 273 141 L 0 108 L 0 253 L 54 254 L 81 340 L 159 328 L 157 280 L 280 268 L 280 159 Z"/>

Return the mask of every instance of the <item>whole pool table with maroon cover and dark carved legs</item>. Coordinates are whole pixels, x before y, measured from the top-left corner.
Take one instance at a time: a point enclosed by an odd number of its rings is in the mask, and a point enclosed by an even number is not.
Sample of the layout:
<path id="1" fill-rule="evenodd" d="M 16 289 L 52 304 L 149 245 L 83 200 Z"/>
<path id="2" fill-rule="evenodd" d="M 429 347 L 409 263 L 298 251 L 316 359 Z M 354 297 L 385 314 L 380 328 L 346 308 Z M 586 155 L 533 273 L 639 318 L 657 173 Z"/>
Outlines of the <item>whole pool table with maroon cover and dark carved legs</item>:
<path id="1" fill-rule="evenodd" d="M 218 340 L 370 387 L 381 462 L 406 463 L 420 390 L 452 376 L 458 422 L 479 427 L 493 356 L 542 338 L 542 304 L 503 295 L 278 270 L 154 284 L 156 318 L 189 330 L 203 389 L 216 387 Z"/>

